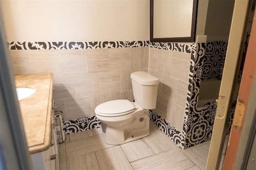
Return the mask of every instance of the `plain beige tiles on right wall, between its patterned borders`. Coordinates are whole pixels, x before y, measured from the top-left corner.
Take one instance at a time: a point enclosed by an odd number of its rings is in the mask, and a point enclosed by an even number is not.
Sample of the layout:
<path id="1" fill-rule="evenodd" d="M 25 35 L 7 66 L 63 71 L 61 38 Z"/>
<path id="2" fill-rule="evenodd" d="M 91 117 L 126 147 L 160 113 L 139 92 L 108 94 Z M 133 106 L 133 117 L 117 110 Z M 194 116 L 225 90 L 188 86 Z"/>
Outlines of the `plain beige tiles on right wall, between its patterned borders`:
<path id="1" fill-rule="evenodd" d="M 148 72 L 160 80 L 156 113 L 182 132 L 191 53 L 150 48 Z"/>

